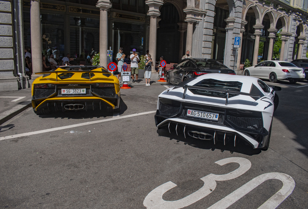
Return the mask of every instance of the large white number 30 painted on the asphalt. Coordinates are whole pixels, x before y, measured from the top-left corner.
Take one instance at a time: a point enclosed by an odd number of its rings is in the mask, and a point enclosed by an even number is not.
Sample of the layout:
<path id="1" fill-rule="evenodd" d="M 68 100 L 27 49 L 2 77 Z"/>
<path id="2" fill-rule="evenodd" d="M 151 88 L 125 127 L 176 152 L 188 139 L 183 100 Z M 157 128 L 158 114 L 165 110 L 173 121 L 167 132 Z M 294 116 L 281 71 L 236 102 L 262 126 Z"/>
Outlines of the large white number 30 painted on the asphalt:
<path id="1" fill-rule="evenodd" d="M 248 171 L 251 167 L 251 162 L 249 160 L 240 157 L 226 158 L 219 160 L 215 163 L 219 165 L 224 165 L 228 163 L 238 163 L 240 164 L 240 167 L 228 174 L 224 175 L 209 174 L 201 178 L 201 180 L 204 182 L 203 187 L 201 187 L 198 191 L 194 192 L 193 194 L 190 194 L 182 199 L 175 201 L 165 201 L 162 198 L 163 194 L 165 194 L 167 191 L 177 186 L 175 183 L 169 181 L 152 190 L 145 197 L 143 205 L 147 209 L 185 208 L 199 201 L 200 199 L 206 197 L 208 194 L 211 194 L 216 188 L 216 181 L 235 179 L 246 173 L 246 171 Z M 238 188 L 231 194 L 227 195 L 226 197 L 224 197 L 223 199 L 221 199 L 220 201 L 209 207 L 209 209 L 227 209 L 237 200 L 239 200 L 240 198 L 248 194 L 251 190 L 262 184 L 262 182 L 269 179 L 278 179 L 282 181 L 283 186 L 276 194 L 274 194 L 266 202 L 264 202 L 259 207 L 259 209 L 268 209 L 268 208 L 275 209 L 293 192 L 293 189 L 295 187 L 295 182 L 293 178 L 284 173 L 262 174 L 250 180 L 249 182 L 247 182 L 246 184 L 244 184 L 242 187 Z"/>

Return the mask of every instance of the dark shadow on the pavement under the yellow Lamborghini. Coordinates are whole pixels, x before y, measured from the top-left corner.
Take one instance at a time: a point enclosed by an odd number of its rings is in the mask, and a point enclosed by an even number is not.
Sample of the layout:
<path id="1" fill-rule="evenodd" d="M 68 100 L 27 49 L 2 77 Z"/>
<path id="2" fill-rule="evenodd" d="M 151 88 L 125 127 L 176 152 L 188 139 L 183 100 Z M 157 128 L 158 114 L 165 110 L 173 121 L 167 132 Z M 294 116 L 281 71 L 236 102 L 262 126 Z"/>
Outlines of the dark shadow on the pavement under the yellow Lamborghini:
<path id="1" fill-rule="evenodd" d="M 120 115 L 122 115 L 127 110 L 127 105 L 124 103 L 124 101 L 120 100 Z M 106 118 L 106 117 L 112 117 L 113 112 L 108 111 L 106 109 L 102 110 L 80 110 L 80 111 L 53 111 L 50 114 L 47 115 L 39 115 L 40 118 L 54 118 L 54 119 L 92 119 L 92 118 Z"/>

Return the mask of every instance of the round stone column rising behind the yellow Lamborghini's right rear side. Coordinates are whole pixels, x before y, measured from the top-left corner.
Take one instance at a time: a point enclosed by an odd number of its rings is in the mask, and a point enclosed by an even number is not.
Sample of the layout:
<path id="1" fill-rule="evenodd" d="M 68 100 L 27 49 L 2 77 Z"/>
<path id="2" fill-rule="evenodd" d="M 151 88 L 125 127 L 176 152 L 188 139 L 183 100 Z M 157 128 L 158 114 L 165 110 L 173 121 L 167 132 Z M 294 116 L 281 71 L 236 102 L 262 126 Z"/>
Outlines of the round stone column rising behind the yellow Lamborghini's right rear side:
<path id="1" fill-rule="evenodd" d="M 99 65 L 107 69 L 108 65 L 108 9 L 111 7 L 109 0 L 99 0 L 96 7 L 100 9 L 99 18 Z"/>

